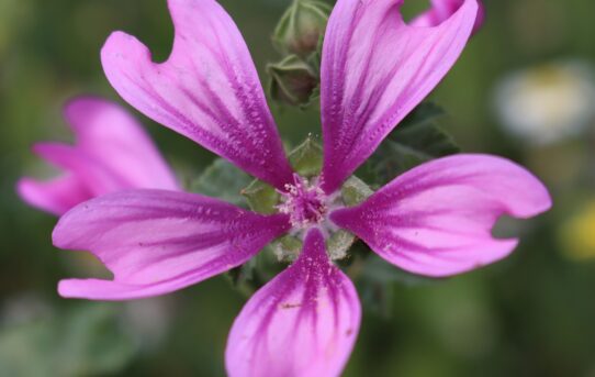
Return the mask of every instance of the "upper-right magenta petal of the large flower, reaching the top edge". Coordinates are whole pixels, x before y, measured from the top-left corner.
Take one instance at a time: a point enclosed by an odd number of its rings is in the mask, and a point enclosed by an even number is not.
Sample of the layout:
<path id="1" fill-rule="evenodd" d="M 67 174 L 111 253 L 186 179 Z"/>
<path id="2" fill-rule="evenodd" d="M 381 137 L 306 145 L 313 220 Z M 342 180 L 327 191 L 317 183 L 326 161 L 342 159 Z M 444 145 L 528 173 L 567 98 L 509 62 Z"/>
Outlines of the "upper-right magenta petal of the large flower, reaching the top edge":
<path id="1" fill-rule="evenodd" d="M 442 79 L 478 13 L 465 0 L 435 27 L 408 26 L 402 0 L 339 0 L 322 62 L 323 188 L 329 193 L 364 162 Z"/>

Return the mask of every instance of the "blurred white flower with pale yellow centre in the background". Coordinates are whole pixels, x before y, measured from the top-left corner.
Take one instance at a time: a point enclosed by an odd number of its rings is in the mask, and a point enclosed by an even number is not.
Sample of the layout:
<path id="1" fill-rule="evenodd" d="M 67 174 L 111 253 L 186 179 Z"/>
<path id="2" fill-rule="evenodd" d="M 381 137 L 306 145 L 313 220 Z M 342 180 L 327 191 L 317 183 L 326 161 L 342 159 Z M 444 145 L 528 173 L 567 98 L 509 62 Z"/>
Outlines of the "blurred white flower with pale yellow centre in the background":
<path id="1" fill-rule="evenodd" d="M 577 60 L 524 69 L 502 80 L 495 104 L 512 134 L 536 144 L 553 143 L 595 120 L 595 74 Z"/>

